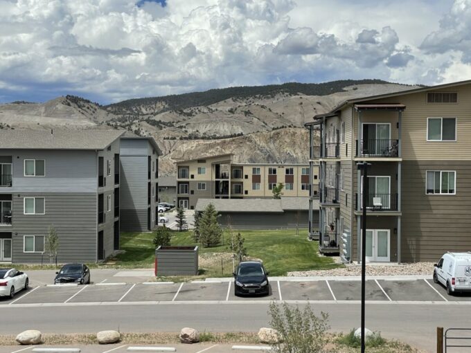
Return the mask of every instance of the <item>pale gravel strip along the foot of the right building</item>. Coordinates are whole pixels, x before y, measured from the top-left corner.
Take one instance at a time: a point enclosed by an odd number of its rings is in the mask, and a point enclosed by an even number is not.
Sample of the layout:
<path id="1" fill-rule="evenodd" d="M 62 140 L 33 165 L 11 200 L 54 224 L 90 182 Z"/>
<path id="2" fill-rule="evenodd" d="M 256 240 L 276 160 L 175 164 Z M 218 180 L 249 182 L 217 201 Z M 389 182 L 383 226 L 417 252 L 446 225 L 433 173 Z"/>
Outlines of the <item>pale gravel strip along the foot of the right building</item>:
<path id="1" fill-rule="evenodd" d="M 366 264 L 366 275 L 432 275 L 434 262 L 415 262 L 413 264 Z M 362 265 L 346 264 L 345 267 L 330 270 L 311 270 L 288 272 L 289 277 L 362 275 Z"/>

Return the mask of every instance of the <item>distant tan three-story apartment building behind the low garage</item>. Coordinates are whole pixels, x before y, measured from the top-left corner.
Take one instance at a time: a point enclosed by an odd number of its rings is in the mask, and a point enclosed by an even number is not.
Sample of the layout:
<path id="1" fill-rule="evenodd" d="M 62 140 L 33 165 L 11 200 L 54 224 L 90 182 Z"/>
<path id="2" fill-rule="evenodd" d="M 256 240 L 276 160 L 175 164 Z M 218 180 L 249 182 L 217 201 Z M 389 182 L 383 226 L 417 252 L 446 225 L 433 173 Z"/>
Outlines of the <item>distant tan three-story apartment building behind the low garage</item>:
<path id="1" fill-rule="evenodd" d="M 194 209 L 198 199 L 272 199 L 283 183 L 283 197 L 309 197 L 318 169 L 309 164 L 233 163 L 233 154 L 177 162 L 177 205 Z M 311 182 L 311 181 L 312 182 Z"/>

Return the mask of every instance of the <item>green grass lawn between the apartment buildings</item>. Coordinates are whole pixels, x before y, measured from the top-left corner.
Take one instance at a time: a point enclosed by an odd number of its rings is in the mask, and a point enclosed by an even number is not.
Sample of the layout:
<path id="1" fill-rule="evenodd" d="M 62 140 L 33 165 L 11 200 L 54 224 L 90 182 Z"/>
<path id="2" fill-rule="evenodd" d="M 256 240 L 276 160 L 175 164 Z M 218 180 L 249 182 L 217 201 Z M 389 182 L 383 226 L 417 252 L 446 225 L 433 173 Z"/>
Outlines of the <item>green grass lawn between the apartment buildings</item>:
<path id="1" fill-rule="evenodd" d="M 296 237 L 295 230 L 236 230 L 245 237 L 245 247 L 251 259 L 263 260 L 270 275 L 286 275 L 288 271 L 332 269 L 328 257 L 317 255 L 317 242 L 305 236 Z M 305 231 L 301 231 L 305 234 Z M 154 265 L 152 233 L 121 233 L 121 249 L 125 253 L 111 260 L 116 266 L 145 268 Z M 202 277 L 227 277 L 232 274 L 231 253 L 227 247 L 229 235 L 224 233 L 224 245 L 199 248 L 199 268 Z M 193 245 L 191 231 L 173 232 L 172 245 Z"/>

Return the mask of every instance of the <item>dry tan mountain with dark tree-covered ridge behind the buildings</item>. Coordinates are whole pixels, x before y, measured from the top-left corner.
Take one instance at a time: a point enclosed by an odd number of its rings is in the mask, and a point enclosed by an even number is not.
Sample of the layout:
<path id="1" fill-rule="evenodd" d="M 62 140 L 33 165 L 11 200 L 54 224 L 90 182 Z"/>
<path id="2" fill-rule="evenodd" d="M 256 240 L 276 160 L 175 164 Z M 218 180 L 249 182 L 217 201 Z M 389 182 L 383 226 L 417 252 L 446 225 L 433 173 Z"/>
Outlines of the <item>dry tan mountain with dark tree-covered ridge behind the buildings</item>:
<path id="1" fill-rule="evenodd" d="M 162 175 L 175 161 L 234 153 L 237 162 L 308 161 L 303 124 L 350 98 L 417 88 L 381 80 L 230 87 L 101 106 L 76 96 L 0 105 L 0 128 L 127 129 L 155 138 Z"/>

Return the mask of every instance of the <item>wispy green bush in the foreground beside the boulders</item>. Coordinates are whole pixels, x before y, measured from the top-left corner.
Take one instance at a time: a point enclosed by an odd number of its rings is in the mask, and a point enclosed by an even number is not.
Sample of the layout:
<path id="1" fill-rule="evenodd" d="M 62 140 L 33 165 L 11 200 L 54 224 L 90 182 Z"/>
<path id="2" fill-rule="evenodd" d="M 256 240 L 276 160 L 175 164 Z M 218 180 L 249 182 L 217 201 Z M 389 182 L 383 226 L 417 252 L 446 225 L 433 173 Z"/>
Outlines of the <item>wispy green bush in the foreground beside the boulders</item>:
<path id="1" fill-rule="evenodd" d="M 270 325 L 276 329 L 283 343 L 272 344 L 278 353 L 320 353 L 326 345 L 326 331 L 329 329 L 328 314 L 321 312 L 315 316 L 309 305 L 301 311 L 290 307 L 286 302 L 277 305 L 272 302 L 268 309 Z"/>

